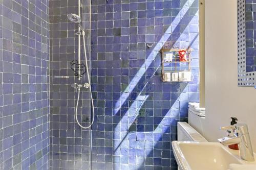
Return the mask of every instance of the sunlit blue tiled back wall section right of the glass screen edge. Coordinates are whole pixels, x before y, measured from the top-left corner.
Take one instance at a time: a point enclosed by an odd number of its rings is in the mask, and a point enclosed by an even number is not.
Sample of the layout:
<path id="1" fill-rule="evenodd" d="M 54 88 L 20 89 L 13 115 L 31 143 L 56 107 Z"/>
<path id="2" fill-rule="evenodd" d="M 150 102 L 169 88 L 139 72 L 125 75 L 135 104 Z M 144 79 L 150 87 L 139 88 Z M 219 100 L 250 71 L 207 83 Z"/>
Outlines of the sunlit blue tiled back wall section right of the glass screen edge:
<path id="1" fill-rule="evenodd" d="M 98 0 L 91 11 L 93 169 L 177 169 L 177 121 L 199 101 L 198 1 Z M 161 81 L 166 41 L 194 49 L 192 82 Z"/>

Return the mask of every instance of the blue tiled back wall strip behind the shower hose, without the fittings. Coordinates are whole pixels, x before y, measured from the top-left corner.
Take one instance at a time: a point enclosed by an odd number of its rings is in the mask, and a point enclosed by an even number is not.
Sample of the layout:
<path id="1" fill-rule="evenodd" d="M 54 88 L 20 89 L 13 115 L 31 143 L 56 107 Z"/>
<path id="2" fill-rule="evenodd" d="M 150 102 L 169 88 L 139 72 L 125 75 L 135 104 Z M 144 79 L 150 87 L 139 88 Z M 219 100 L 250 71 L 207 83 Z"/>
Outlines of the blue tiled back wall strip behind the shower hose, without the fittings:
<path id="1" fill-rule="evenodd" d="M 87 57 L 90 64 L 90 0 L 81 1 L 82 26 L 86 29 Z M 78 14 L 78 1 L 50 0 L 50 108 L 51 108 L 51 168 L 90 169 L 90 128 L 81 130 L 75 121 L 78 92 L 73 83 L 88 82 L 86 74 L 78 81 L 70 62 L 78 60 L 78 24 L 67 14 Z M 81 49 L 82 46 L 81 38 Z M 85 64 L 83 50 L 82 63 Z M 90 71 L 90 70 L 89 70 Z M 89 74 L 90 75 L 90 74 Z M 70 78 L 56 78 L 69 76 Z M 90 122 L 91 100 L 88 89 L 81 88 L 78 120 L 82 126 Z M 83 117 L 81 117 L 83 115 Z"/>

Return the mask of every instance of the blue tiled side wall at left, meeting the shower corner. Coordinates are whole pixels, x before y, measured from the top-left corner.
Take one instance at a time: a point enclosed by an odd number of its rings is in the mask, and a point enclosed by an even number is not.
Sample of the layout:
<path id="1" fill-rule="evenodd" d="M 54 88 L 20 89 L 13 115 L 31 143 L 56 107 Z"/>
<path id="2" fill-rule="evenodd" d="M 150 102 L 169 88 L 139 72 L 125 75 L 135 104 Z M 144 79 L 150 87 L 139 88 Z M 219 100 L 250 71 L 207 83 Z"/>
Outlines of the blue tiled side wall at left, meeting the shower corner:
<path id="1" fill-rule="evenodd" d="M 48 169 L 49 1 L 0 8 L 0 168 Z"/>

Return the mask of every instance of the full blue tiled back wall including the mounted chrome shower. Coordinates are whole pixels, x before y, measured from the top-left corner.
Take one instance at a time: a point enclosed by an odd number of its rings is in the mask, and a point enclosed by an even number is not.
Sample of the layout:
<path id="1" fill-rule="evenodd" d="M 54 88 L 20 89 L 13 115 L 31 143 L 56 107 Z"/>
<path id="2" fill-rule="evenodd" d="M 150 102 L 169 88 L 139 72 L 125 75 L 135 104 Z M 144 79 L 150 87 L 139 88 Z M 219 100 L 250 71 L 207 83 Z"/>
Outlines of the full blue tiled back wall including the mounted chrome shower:
<path id="1" fill-rule="evenodd" d="M 199 99 L 198 1 L 80 3 L 50 0 L 51 168 L 176 170 L 177 122 Z M 194 49 L 193 81 L 161 81 L 165 45 Z"/>

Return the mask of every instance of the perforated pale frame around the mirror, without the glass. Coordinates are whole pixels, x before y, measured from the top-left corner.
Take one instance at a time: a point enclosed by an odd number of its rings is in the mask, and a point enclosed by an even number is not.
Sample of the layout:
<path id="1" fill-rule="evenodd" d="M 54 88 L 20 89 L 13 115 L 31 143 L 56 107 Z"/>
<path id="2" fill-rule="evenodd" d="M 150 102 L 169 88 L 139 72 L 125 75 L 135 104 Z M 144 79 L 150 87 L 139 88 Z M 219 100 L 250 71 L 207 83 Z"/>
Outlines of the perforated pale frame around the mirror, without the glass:
<path id="1" fill-rule="evenodd" d="M 246 72 L 245 0 L 238 0 L 238 86 L 255 86 L 256 71 Z"/>

